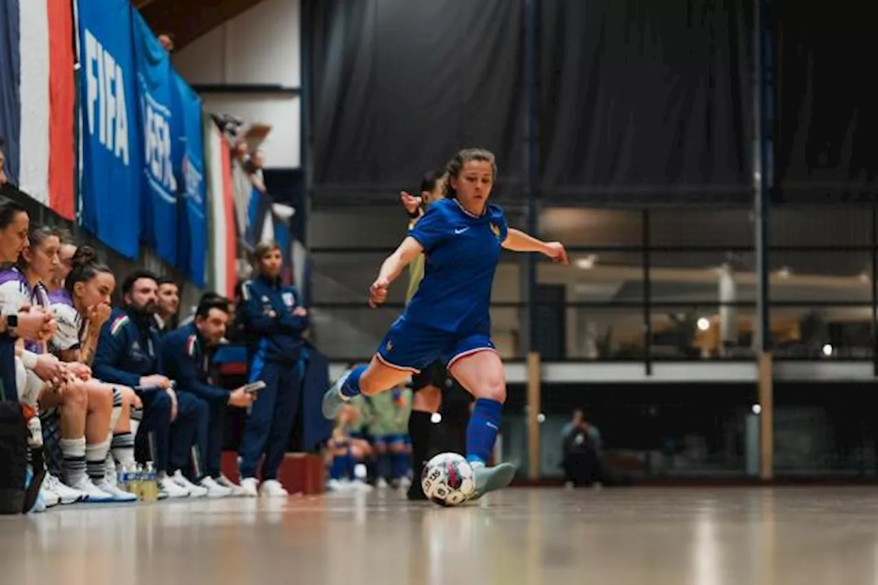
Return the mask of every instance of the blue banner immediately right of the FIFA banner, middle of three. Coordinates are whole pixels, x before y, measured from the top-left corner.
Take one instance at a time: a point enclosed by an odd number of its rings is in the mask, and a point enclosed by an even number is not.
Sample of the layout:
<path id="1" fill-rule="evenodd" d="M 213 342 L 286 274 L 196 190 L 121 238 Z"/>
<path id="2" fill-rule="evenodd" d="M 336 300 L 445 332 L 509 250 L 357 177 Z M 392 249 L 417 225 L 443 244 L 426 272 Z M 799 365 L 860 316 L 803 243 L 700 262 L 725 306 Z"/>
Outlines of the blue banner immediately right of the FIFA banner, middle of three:
<path id="1" fill-rule="evenodd" d="M 96 3 L 99 4 L 99 3 Z M 159 44 L 140 12 L 131 9 L 138 106 L 143 129 L 143 235 L 162 260 L 177 264 L 177 175 L 183 160 L 183 132 L 176 111 L 170 55 Z M 175 116 L 176 113 L 176 116 Z M 177 166 L 179 168 L 179 166 Z"/>

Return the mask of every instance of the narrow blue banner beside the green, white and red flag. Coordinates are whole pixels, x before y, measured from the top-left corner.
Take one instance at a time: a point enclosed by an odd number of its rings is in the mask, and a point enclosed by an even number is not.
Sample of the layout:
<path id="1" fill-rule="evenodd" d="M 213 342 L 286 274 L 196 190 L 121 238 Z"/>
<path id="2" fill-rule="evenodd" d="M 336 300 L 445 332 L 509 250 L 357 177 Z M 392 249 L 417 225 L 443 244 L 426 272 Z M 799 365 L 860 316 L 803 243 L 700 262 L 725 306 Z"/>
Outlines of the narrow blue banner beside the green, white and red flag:
<path id="1" fill-rule="evenodd" d="M 175 102 L 179 107 L 183 128 L 183 153 L 180 164 L 180 204 L 177 207 L 177 266 L 199 288 L 205 286 L 207 254 L 207 218 L 205 209 L 205 153 L 201 127 L 201 98 L 176 72 Z M 176 115 L 176 111 L 175 111 Z"/>

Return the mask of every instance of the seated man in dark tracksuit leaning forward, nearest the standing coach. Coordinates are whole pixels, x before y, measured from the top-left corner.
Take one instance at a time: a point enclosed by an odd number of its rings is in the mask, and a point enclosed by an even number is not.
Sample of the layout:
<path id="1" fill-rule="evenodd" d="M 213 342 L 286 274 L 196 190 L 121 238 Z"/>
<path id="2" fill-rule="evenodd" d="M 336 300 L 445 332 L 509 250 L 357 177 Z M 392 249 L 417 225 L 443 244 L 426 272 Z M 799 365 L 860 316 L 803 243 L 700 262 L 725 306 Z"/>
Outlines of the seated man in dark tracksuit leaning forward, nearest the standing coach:
<path id="1" fill-rule="evenodd" d="M 209 349 L 217 346 L 226 334 L 229 302 L 221 296 L 204 296 L 198 303 L 195 318 L 162 338 L 162 365 L 176 381 L 180 394 L 189 393 L 205 403 L 210 419 L 198 428 L 198 452 L 204 467 L 197 479 L 208 496 L 228 496 L 230 486 L 223 478 L 222 432 L 227 405 L 248 408 L 253 396 L 243 388 L 229 391 L 214 386 L 210 380 Z"/>

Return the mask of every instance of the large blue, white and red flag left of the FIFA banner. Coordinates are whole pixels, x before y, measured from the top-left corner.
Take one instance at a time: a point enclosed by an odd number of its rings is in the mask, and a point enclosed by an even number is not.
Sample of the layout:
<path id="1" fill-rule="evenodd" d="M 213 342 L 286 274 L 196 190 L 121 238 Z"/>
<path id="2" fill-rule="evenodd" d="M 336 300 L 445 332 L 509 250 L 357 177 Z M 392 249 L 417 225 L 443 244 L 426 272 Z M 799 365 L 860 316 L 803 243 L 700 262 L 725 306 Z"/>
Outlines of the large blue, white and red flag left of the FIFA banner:
<path id="1" fill-rule="evenodd" d="M 75 111 L 70 0 L 0 0 L 0 137 L 18 189 L 74 218 Z"/>

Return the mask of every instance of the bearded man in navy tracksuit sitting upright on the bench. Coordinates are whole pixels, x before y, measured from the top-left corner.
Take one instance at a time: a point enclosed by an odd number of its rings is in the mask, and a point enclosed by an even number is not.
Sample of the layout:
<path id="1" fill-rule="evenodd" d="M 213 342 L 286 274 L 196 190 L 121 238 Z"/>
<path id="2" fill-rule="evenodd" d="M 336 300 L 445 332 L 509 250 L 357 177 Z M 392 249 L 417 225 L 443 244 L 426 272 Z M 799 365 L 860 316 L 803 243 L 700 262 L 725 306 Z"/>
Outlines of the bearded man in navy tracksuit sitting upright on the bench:
<path id="1" fill-rule="evenodd" d="M 183 469 L 190 464 L 191 448 L 199 425 L 206 424 L 208 410 L 195 396 L 177 394 L 173 382 L 162 375 L 155 326 L 157 295 L 153 273 L 137 271 L 125 279 L 122 308 L 114 309 L 101 328 L 92 369 L 104 382 L 124 384 L 140 396 L 143 420 L 135 449 L 141 461 L 149 459 L 145 453 L 150 447 L 154 450 L 161 492 L 169 497 L 203 497 L 207 489 L 186 479 Z"/>

